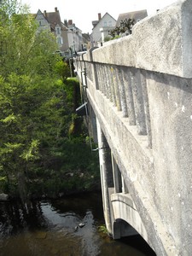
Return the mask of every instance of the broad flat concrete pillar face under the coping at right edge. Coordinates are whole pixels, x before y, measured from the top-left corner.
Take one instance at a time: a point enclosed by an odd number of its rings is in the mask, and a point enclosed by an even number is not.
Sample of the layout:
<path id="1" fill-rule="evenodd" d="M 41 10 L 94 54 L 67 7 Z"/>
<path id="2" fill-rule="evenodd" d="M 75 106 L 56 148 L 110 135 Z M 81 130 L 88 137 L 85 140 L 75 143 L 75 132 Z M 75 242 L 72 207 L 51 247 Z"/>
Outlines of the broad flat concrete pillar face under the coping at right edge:
<path id="1" fill-rule="evenodd" d="M 192 253 L 192 81 L 148 74 L 148 99 L 155 205 L 178 247 L 183 248 L 183 255 L 189 255 Z"/>

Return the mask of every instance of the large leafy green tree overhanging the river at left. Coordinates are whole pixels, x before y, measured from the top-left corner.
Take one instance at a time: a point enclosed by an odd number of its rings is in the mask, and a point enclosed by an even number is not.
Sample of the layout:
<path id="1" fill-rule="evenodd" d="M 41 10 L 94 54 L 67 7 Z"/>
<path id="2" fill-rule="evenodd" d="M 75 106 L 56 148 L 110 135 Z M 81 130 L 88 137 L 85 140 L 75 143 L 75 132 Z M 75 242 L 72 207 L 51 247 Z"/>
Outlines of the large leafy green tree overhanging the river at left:
<path id="1" fill-rule="evenodd" d="M 38 32 L 15 0 L 0 3 L 0 38 L 0 176 L 18 186 L 25 202 L 27 173 L 44 161 L 44 142 L 56 141 L 61 130 L 63 84 L 55 73 L 60 58 L 53 55 L 53 36 Z"/>

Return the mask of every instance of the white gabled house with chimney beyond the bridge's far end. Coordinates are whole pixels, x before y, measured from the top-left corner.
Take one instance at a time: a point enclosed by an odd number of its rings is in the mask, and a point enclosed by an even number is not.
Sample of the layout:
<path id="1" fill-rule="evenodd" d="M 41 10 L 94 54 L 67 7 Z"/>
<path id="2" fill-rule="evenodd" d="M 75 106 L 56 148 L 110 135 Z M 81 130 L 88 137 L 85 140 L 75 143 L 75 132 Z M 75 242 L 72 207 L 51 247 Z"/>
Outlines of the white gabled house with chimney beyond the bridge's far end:
<path id="1" fill-rule="evenodd" d="M 106 13 L 105 15 L 98 14 L 98 20 L 92 21 L 92 33 L 90 35 L 91 47 L 100 46 L 104 42 L 104 38 L 108 36 L 108 32 L 116 26 L 116 20 Z"/>

